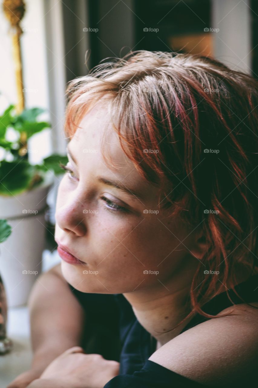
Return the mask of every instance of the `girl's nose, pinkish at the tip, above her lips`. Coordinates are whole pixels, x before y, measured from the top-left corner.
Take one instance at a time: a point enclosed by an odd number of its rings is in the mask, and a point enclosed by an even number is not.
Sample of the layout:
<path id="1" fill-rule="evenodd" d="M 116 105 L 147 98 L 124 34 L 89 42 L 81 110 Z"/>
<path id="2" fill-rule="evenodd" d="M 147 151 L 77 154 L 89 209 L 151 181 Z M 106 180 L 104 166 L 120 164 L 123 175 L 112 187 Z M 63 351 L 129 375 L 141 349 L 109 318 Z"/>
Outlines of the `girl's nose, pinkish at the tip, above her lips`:
<path id="1" fill-rule="evenodd" d="M 65 232 L 82 237 L 86 233 L 84 205 L 80 201 L 65 203 L 55 211 L 55 220 Z"/>

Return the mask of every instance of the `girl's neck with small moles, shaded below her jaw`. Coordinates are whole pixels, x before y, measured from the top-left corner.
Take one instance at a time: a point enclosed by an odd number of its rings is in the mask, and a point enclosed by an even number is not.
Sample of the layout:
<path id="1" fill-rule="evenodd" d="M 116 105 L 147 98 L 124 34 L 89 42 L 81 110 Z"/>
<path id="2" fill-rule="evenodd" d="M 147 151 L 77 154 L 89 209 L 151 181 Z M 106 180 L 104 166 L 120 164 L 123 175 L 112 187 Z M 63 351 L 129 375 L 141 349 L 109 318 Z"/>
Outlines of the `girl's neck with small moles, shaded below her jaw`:
<path id="1" fill-rule="evenodd" d="M 184 262 L 181 274 L 177 272 L 175 276 L 168 280 L 163 279 L 162 282 L 157 279 L 154 286 L 124 294 L 141 326 L 161 345 L 180 334 L 191 320 L 189 317 L 173 329 L 191 311 L 189 291 L 197 260 L 189 258 L 187 261 L 189 263 Z"/>

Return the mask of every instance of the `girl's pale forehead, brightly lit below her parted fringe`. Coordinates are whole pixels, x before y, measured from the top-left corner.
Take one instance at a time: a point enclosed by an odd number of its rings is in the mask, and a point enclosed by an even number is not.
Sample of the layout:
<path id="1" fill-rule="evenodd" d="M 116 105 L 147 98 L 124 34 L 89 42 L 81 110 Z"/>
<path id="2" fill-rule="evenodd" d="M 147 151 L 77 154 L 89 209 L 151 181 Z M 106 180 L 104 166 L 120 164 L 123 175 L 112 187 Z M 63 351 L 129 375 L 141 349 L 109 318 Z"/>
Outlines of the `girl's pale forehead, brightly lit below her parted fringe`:
<path id="1" fill-rule="evenodd" d="M 122 150 L 106 105 L 95 106 L 84 116 L 79 127 L 69 143 L 69 149 L 79 169 L 90 174 L 91 178 L 116 178 L 122 184 L 140 192 L 146 200 L 156 198 L 158 189 L 141 177 L 134 163 Z M 104 150 L 101 149 L 103 138 Z M 108 160 L 111 159 L 112 165 L 103 158 L 102 152 L 105 152 Z"/>

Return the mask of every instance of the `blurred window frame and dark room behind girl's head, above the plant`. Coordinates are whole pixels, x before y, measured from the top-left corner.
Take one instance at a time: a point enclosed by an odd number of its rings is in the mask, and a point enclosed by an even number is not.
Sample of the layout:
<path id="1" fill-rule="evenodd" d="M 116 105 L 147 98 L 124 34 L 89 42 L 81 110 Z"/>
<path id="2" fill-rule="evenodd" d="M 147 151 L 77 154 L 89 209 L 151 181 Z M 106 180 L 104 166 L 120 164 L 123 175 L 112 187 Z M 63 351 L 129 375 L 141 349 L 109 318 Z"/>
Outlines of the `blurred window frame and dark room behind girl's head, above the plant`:
<path id="1" fill-rule="evenodd" d="M 52 124 L 34 139 L 41 144 L 41 152 L 31 156 L 35 161 L 65 152 L 65 85 L 106 57 L 141 49 L 201 53 L 258 74 L 256 0 L 26 0 L 25 7 L 21 54 L 26 106 L 47 108 Z M 1 110 L 3 99 L 17 101 L 8 31 L 0 11 Z"/>

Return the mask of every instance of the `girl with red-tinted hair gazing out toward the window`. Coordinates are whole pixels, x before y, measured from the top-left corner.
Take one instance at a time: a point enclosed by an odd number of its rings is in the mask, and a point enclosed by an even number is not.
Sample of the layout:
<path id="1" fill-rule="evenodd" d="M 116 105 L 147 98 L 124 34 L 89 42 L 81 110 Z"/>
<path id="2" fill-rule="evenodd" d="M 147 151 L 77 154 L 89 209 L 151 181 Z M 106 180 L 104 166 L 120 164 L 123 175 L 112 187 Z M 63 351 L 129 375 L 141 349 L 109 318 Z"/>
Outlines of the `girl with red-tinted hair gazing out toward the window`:
<path id="1" fill-rule="evenodd" d="M 120 348 L 73 347 L 29 387 L 252 386 L 257 91 L 215 59 L 144 50 L 71 81 L 55 239 Z"/>

